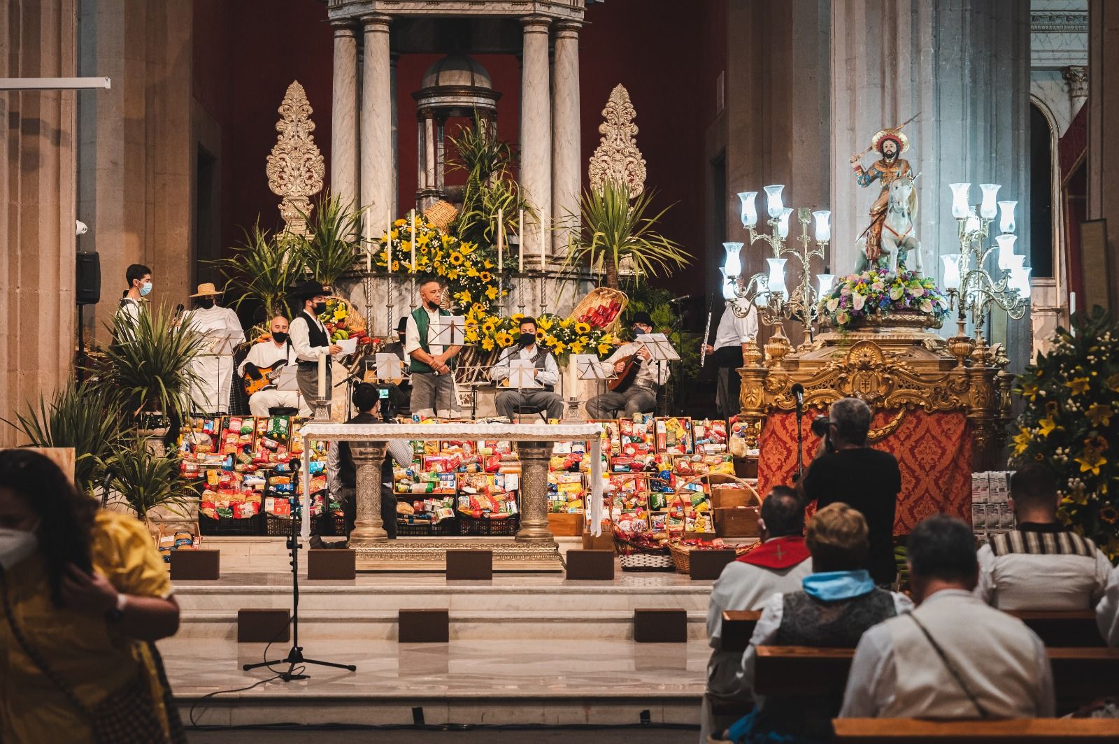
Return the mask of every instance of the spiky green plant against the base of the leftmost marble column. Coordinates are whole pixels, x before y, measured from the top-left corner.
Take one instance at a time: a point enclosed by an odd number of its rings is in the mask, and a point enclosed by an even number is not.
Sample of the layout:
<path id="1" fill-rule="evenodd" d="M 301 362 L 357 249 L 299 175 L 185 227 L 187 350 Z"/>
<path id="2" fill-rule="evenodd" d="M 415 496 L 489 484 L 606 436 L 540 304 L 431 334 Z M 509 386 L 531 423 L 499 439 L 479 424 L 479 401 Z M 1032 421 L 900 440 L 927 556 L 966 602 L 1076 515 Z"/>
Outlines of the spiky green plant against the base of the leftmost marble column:
<path id="1" fill-rule="evenodd" d="M 316 281 L 332 285 L 354 270 L 364 211 L 327 192 L 314 200 L 310 215 L 300 211 L 307 220 L 307 235 L 295 238 L 295 251 Z"/>

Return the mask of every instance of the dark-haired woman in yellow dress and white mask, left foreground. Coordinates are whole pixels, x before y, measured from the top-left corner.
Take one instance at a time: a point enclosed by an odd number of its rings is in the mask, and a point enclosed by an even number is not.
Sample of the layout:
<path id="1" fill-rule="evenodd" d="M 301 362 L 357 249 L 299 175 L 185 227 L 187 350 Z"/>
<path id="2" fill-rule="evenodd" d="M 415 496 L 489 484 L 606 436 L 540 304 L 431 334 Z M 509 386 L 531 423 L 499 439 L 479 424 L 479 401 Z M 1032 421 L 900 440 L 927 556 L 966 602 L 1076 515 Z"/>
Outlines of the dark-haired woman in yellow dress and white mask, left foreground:
<path id="1" fill-rule="evenodd" d="M 132 517 L 0 451 L 0 742 L 182 742 L 153 641 L 179 605 Z"/>

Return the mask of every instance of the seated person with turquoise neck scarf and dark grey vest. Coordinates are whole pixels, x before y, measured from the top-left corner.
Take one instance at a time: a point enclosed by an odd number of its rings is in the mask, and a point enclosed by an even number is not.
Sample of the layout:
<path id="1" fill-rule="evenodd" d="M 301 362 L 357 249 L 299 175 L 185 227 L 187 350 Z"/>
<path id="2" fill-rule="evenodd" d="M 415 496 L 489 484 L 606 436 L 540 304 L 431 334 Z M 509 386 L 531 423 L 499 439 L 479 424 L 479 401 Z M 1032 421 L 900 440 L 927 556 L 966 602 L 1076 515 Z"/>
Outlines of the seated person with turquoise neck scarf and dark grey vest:
<path id="1" fill-rule="evenodd" d="M 805 543 L 814 573 L 800 591 L 777 593 L 765 603 L 742 657 L 743 689 L 753 688 L 759 646 L 854 648 L 868 628 L 913 606 L 905 595 L 875 586 L 862 568 L 869 548 L 866 520 L 846 503 L 817 511 Z M 835 696 L 754 698 L 756 707 L 731 726 L 727 740 L 822 742 L 843 703 Z"/>

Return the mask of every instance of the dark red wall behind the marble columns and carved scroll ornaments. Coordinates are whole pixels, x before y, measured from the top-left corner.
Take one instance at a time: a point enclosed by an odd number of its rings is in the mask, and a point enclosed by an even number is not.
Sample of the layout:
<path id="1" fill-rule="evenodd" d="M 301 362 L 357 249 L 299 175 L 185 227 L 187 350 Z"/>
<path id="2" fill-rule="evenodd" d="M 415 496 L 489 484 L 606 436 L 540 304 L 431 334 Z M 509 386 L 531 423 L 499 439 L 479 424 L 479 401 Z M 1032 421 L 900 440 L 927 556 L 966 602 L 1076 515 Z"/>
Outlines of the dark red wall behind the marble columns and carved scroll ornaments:
<path id="1" fill-rule="evenodd" d="M 279 223 L 278 199 L 267 188 L 264 160 L 275 142 L 276 106 L 292 79 L 307 90 L 316 141 L 330 162 L 332 35 L 326 4 L 312 0 L 196 0 L 195 97 L 223 131 L 223 245 L 261 215 Z M 681 292 L 703 291 L 704 204 L 707 163 L 704 136 L 715 115 L 715 78 L 725 60 L 725 0 L 687 12 L 674 0 L 610 0 L 592 6 L 580 37 L 583 162 L 599 143 L 601 110 L 621 83 L 637 109 L 638 147 L 655 207 L 675 205 L 660 230 L 697 257 L 698 272 L 660 282 Z M 295 35 L 299 41 L 295 41 Z M 441 55 L 405 55 L 397 67 L 399 206 L 414 204 L 416 123 L 412 92 Z M 498 128 L 518 139 L 520 69 L 511 55 L 478 55 L 502 96 Z M 451 128 L 453 129 L 453 126 Z M 584 171 L 585 178 L 585 171 Z M 449 176 L 449 182 L 461 177 Z"/>

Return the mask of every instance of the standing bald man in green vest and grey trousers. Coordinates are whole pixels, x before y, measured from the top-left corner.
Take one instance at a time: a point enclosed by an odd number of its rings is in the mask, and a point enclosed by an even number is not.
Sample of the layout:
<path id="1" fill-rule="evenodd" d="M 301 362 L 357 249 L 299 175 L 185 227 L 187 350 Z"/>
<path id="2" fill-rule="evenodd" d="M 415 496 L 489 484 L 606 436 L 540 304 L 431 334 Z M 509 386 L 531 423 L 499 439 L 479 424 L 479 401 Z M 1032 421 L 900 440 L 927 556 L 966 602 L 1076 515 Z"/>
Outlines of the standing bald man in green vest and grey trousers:
<path id="1" fill-rule="evenodd" d="M 442 300 L 443 286 L 430 279 L 420 284 L 420 307 L 408 316 L 404 354 L 411 359 L 411 409 L 421 417 L 457 418 L 462 412 L 454 392 L 454 356 L 462 347 L 438 342 L 439 317 L 451 314 L 440 307 Z"/>

